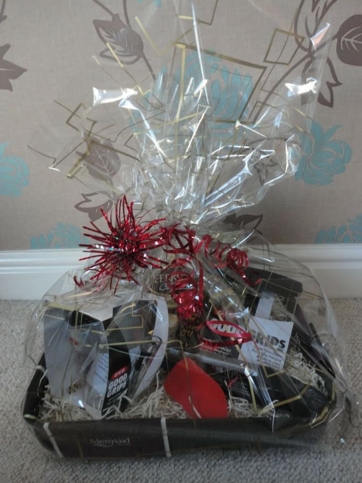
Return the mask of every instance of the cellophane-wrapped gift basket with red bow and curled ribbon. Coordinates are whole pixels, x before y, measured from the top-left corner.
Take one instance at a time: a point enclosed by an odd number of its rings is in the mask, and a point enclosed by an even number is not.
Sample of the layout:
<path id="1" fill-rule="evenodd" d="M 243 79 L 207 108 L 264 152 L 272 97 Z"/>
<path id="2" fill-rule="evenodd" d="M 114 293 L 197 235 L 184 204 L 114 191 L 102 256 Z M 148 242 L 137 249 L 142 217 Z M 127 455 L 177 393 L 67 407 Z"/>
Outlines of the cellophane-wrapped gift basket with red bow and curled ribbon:
<path id="1" fill-rule="evenodd" d="M 204 45 L 203 13 L 170 5 L 158 73 L 132 64 L 153 42 L 151 15 L 135 17 L 142 37 L 118 15 L 97 24 L 106 48 L 67 119 L 77 144 L 54 136 L 51 167 L 104 200 L 85 227 L 85 267 L 48 290 L 25 334 L 23 417 L 60 457 L 329 443 L 348 419 L 323 290 L 225 221 L 295 173 L 330 26 L 303 38 L 307 68 L 265 94 L 248 76 L 262 65 L 231 74 L 236 59 Z M 118 22 L 118 43 L 107 40 Z"/>

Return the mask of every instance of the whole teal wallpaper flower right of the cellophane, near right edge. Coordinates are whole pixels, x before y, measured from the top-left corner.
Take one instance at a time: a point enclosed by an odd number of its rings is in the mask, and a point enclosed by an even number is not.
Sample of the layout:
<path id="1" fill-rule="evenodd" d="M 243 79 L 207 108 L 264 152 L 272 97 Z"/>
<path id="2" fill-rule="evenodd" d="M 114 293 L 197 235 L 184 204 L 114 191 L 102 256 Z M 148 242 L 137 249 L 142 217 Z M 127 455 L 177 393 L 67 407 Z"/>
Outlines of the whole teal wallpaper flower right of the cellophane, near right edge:
<path id="1" fill-rule="evenodd" d="M 312 123 L 310 135 L 302 134 L 302 159 L 296 179 L 303 179 L 309 185 L 325 186 L 346 169 L 352 150 L 345 141 L 332 139 L 341 126 L 334 126 L 326 132 L 318 123 Z"/>

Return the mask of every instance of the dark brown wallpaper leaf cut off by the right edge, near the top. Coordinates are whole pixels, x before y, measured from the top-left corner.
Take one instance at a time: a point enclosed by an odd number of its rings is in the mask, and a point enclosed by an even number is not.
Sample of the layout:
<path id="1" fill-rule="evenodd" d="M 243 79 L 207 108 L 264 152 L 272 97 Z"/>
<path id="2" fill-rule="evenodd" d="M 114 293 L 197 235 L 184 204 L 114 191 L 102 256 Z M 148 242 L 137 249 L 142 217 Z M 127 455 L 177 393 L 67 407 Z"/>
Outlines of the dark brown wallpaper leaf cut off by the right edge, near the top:
<path id="1" fill-rule="evenodd" d="M 343 22 L 336 37 L 339 60 L 362 66 L 362 15 L 353 15 Z"/>

